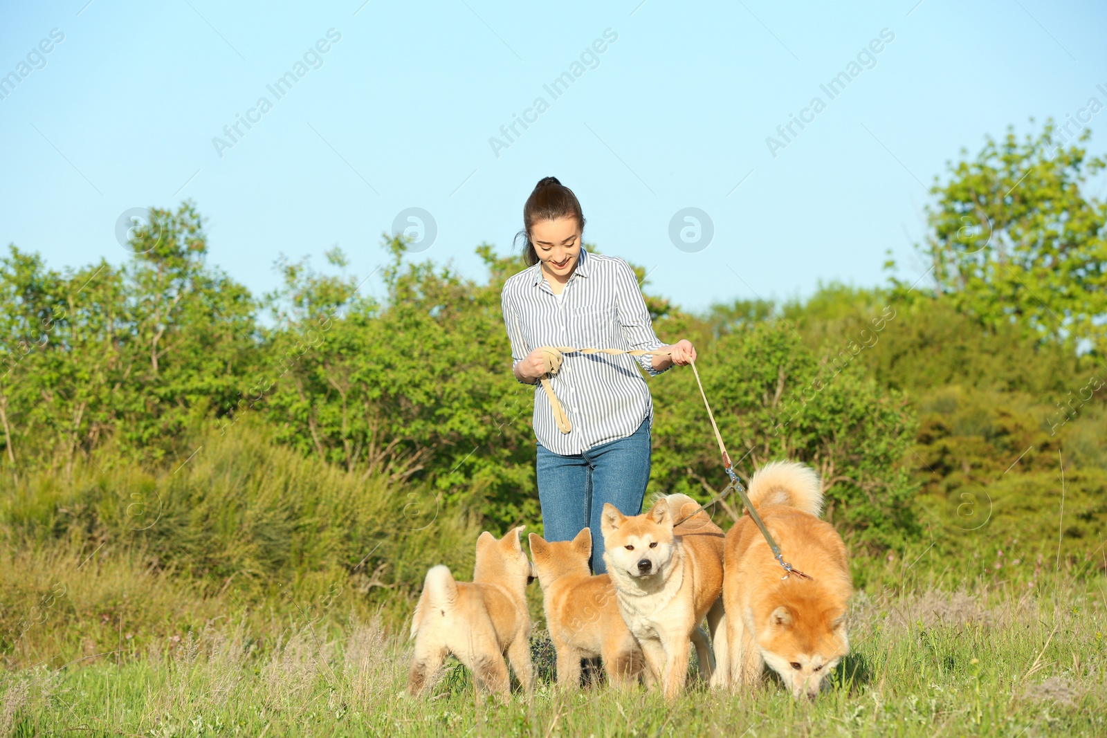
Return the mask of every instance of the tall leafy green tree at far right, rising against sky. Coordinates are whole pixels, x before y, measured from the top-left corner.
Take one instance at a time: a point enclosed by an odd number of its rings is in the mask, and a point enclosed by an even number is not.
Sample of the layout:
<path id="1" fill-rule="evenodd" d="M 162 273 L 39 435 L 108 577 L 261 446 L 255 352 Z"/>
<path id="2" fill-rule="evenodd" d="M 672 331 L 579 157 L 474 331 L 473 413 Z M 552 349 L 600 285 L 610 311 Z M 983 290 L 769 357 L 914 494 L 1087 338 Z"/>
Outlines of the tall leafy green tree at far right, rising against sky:
<path id="1" fill-rule="evenodd" d="M 1086 132 L 1077 143 L 1088 138 Z M 985 326 L 1025 326 L 1069 349 L 1107 349 L 1107 204 L 1086 196 L 1107 163 L 1058 144 L 1047 122 L 1020 142 L 1008 129 L 974 160 L 949 165 L 931 193 L 920 251 L 935 290 Z M 898 284 L 906 293 L 906 284 Z"/>

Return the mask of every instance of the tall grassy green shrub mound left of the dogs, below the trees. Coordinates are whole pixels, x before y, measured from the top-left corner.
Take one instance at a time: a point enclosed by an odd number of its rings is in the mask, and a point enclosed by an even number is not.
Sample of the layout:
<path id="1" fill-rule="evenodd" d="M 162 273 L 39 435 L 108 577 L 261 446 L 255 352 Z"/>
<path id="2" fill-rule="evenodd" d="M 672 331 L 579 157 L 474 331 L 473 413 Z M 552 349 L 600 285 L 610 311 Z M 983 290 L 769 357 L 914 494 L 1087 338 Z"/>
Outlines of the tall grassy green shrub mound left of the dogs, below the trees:
<path id="1" fill-rule="evenodd" d="M 304 457 L 255 422 L 194 440 L 176 469 L 0 478 L 0 655 L 110 651 L 118 630 L 179 635 L 216 614 L 399 626 L 428 568 L 470 575 L 477 521 L 427 485 Z"/>

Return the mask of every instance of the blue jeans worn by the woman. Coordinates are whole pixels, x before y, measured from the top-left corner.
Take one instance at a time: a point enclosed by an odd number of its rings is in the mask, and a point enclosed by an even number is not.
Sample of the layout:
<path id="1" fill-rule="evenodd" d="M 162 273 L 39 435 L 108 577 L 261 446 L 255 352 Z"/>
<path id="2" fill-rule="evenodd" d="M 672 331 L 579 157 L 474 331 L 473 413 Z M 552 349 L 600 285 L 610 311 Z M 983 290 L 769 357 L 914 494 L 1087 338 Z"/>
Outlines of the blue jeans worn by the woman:
<path id="1" fill-rule="evenodd" d="M 630 436 L 572 456 L 539 444 L 537 471 L 546 540 L 571 541 L 591 528 L 592 571 L 603 573 L 603 503 L 611 502 L 628 516 L 642 511 L 650 481 L 650 423 L 643 420 Z"/>

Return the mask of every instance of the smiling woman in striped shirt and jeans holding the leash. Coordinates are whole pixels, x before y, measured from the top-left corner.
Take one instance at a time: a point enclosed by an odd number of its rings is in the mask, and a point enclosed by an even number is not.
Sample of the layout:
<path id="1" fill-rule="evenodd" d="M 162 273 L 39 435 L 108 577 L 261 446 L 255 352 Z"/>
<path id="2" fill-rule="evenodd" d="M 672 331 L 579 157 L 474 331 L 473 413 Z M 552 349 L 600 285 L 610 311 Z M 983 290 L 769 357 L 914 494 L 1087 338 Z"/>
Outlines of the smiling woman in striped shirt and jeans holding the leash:
<path id="1" fill-rule="evenodd" d="M 651 376 L 695 360 L 687 341 L 663 346 L 633 270 L 622 259 L 581 248 L 584 216 L 572 190 L 540 180 L 523 208 L 528 269 L 504 284 L 504 322 L 515 377 L 535 388 L 538 498 L 548 541 L 592 529 L 592 571 L 603 565 L 600 513 L 611 502 L 623 514 L 642 510 L 650 479 L 653 399 L 639 372 Z M 541 346 L 668 349 L 671 355 L 565 354 L 550 376 L 571 429 L 562 433 L 539 386 Z"/>

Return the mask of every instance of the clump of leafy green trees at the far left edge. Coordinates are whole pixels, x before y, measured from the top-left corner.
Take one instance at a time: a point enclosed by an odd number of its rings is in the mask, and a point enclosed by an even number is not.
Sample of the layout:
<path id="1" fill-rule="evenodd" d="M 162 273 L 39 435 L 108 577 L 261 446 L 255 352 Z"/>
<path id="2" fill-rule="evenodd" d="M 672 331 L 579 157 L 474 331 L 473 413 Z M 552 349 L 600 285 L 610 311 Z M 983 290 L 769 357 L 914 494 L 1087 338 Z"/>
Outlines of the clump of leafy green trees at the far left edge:
<path id="1" fill-rule="evenodd" d="M 199 215 L 152 209 L 131 247 L 123 267 L 64 273 L 15 247 L 0 258 L 8 464 L 72 468 L 110 443 L 131 459 L 175 458 L 185 430 L 235 398 L 256 361 L 255 303 L 205 263 Z"/>

